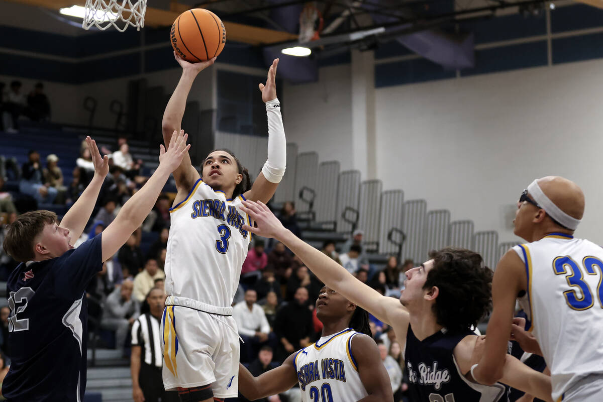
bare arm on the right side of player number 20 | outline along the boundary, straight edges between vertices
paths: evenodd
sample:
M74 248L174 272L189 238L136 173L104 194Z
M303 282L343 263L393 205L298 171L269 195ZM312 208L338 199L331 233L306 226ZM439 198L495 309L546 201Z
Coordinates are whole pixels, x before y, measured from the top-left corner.
M358 365L358 374L367 396L358 402L393 402L390 376L381 357L377 344L368 335L358 334L352 338L352 355Z

